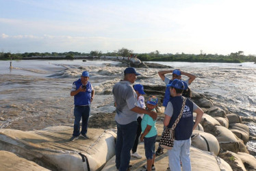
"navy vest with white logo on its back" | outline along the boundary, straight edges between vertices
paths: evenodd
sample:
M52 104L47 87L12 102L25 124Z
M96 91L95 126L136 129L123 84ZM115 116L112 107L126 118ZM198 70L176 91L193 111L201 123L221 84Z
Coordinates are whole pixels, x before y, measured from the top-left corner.
M172 103L173 114L170 118L168 128L171 128L172 124L174 124L175 120L177 120L179 113L181 112L183 100L181 96L175 96L170 98L170 103ZM183 114L175 128L175 140L190 139L190 136L192 135L193 125L193 103L192 101L190 101L190 99L187 98L185 107L183 109Z

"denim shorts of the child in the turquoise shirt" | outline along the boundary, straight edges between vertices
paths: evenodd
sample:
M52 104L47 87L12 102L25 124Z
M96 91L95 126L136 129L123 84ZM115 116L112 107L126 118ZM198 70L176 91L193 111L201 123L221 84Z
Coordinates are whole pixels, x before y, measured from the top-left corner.
M144 148L146 159L153 159L153 155L155 154L155 140L157 139L157 135L153 137L144 137Z

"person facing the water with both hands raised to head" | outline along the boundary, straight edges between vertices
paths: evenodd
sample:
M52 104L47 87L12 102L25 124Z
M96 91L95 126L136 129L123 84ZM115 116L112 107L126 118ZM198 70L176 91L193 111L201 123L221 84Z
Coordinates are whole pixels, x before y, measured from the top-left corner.
M168 79L165 76L167 73L172 73L172 79ZM183 72L179 69L176 69L176 70L161 70L161 71L158 72L158 75L162 79L162 81L164 81L164 83L166 85L172 83L172 80L174 80L174 79L181 79L181 75L185 75L185 76L188 77L188 79L185 80L185 83L187 83L188 85L190 85L190 83L192 83L192 81L194 81L194 79L196 79L196 76L194 76L192 74L189 74L189 73L185 73L185 72ZM166 92L164 94L163 106L166 107L169 101L170 101L170 89L166 88ZM159 155L162 155L163 153L164 153L163 148L158 146L157 152L155 153L155 155L159 156Z

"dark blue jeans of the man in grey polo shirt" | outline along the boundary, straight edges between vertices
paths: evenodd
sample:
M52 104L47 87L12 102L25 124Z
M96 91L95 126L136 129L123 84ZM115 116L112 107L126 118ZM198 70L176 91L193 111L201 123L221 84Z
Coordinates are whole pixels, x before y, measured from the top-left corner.
M118 122L116 122L116 125L116 168L120 171L125 171L129 167L131 159L130 151L136 138L138 123L137 121L133 121L129 124L118 124Z

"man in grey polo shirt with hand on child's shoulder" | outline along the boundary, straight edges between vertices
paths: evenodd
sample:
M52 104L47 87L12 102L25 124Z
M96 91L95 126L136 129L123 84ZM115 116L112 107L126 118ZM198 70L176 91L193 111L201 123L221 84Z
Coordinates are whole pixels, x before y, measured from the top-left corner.
M114 103L116 106L116 168L120 171L129 170L131 159L131 148L136 138L138 127L137 114L147 114L156 120L157 114L154 111L142 109L137 106L136 92L132 84L136 77L140 75L135 68L129 67L124 71L123 80L113 87Z

